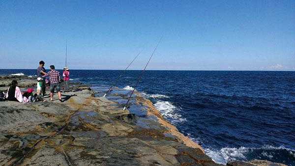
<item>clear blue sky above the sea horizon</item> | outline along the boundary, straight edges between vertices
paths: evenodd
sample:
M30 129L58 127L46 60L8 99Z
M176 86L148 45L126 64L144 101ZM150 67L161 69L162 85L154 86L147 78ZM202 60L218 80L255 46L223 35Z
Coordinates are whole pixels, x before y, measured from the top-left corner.
M1 0L0 68L295 70L295 0Z

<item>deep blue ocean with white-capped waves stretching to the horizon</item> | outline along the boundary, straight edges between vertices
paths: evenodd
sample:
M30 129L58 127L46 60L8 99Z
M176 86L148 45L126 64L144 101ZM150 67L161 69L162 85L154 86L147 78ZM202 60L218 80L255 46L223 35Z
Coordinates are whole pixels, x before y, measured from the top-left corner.
M71 70L71 81L107 89L121 72ZM0 69L0 75L18 73L36 70ZM140 74L127 71L115 85L132 90ZM295 166L295 72L146 71L136 90L217 163Z

